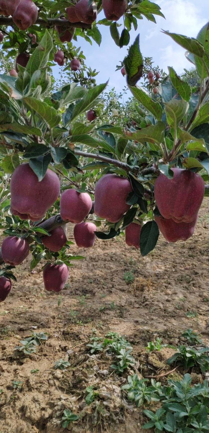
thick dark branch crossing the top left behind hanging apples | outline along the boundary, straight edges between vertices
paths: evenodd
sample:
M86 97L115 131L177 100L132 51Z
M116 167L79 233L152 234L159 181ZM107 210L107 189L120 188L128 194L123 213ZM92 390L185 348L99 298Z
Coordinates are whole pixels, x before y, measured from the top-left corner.
M55 26L61 26L63 29L68 29L72 27L76 27L77 29L91 29L91 24L85 24L85 23L70 23L67 19L60 19L60 18L48 18L47 20L38 18L35 24L39 24L42 27L55 27ZM7 18L6 16L0 17L0 26L13 26L13 19Z

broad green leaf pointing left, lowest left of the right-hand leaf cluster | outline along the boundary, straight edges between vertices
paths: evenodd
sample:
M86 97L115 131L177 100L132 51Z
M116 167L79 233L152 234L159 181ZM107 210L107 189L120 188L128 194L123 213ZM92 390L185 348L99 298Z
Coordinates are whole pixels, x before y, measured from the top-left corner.
M147 128L143 128L132 134L132 139L139 142L155 142L158 145L164 141L164 130L165 124L163 122L158 122L157 125L151 125Z

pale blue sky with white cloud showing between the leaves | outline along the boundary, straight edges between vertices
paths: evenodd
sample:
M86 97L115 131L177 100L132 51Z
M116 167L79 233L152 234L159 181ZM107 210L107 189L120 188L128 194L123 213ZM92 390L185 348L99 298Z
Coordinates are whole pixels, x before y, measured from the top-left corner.
M145 17L138 20L138 29L130 32L130 45L137 34L140 34L140 50L144 57L152 57L154 64L159 65L165 72L167 66L173 66L177 73L183 72L183 68L190 68L192 64L186 60L185 50L177 45L169 36L163 34L161 29L169 32L180 33L190 37L196 37L199 30L209 20L209 0L158 0L155 1L164 14L155 16L156 23L148 21ZM97 20L103 19L103 11ZM119 20L118 23L122 23ZM127 53L127 47L119 48L110 36L109 27L98 26L102 34L100 47L93 41L91 46L83 38L77 38L75 45L81 46L86 56L86 65L100 73L96 77L97 84L109 79L109 88L115 87L119 93L125 84L125 78L116 70ZM121 33L123 26L119 27ZM140 82L139 82L140 83ZM128 95L129 96L129 95Z

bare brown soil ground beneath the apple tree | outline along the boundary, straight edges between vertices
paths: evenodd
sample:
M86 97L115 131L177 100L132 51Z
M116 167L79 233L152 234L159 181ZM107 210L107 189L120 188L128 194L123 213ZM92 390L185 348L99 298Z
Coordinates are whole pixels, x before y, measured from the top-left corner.
M90 355L86 345L92 333L117 332L132 344L139 372L150 375L168 370L166 360L175 352L148 354L145 346L157 336L177 346L181 333L193 328L209 344L208 206L205 199L191 239L168 244L160 236L144 258L122 236L97 240L89 250L72 246L71 252L86 259L74 261L61 294L44 291L41 265L34 274L29 260L16 268L17 283L0 304L1 433L66 431L61 427L65 408L81 415L68 428L73 433L148 432L141 429L144 408L135 408L121 394L127 375L112 373L111 359L100 352ZM134 282L126 284L124 277ZM14 357L19 340L34 330L48 333L48 341L29 357ZM60 358L71 366L55 370ZM23 381L22 389L13 389L12 381ZM99 403L85 404L88 385L100 390Z

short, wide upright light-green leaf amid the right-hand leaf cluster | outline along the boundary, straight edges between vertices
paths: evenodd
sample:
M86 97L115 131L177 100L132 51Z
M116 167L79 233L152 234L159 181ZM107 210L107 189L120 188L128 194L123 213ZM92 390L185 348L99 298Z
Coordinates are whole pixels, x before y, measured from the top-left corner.
M167 123L176 129L187 113L188 108L188 102L183 100L172 99L171 101L165 103Z

